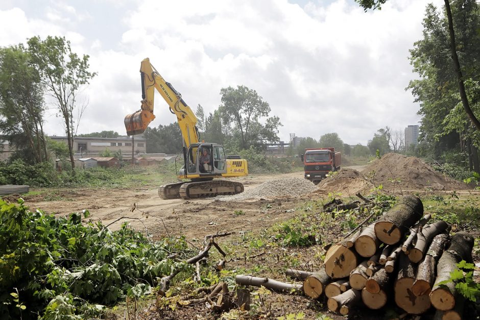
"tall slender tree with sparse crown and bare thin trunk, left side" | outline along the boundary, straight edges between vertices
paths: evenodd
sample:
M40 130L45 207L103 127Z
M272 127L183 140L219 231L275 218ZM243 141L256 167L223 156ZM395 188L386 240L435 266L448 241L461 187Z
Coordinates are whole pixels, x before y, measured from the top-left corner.
M28 40L28 49L42 83L54 98L56 107L65 124L68 151L72 170L75 168L74 136L86 105L79 105L78 93L82 86L96 75L89 70L88 55L79 56L71 51L70 42L64 37L33 37ZM75 174L75 171L73 171Z

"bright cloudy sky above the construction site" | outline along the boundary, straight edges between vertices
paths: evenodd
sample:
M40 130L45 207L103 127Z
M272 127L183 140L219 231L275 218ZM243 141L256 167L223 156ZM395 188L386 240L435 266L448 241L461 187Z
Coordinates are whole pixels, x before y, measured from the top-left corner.
M139 66L149 57L193 109L211 112L220 89L255 89L278 115L280 139L338 132L367 143L385 126L418 124L405 91L409 49L420 39L427 3L390 0L365 13L352 0L2 0L0 46L39 35L65 36L97 71L83 91L88 107L79 133L126 134L139 109ZM160 95L151 126L175 121ZM63 135L55 111L48 134Z

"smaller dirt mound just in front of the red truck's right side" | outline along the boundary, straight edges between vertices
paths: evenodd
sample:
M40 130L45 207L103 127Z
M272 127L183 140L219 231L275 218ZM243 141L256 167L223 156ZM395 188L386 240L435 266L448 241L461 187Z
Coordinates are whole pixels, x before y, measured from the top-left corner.
M355 169L342 168L334 174L322 180L316 193L340 192L343 195L354 195L373 188L365 177Z

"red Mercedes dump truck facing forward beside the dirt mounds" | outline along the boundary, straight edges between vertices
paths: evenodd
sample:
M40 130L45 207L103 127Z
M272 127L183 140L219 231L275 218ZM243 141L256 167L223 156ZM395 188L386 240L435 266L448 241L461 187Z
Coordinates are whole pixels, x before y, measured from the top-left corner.
M342 155L331 148L305 149L301 155L305 179L319 183L330 171L340 170Z

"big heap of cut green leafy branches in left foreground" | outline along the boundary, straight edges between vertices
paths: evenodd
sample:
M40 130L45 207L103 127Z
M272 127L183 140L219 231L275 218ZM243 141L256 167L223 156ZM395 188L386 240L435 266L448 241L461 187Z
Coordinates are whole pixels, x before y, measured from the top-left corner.
M79 213L55 217L2 200L0 222L2 318L25 309L45 319L99 317L103 305L148 294L172 267L184 266L167 258L186 254L183 239L153 242L127 223L112 232L101 222L82 224Z

